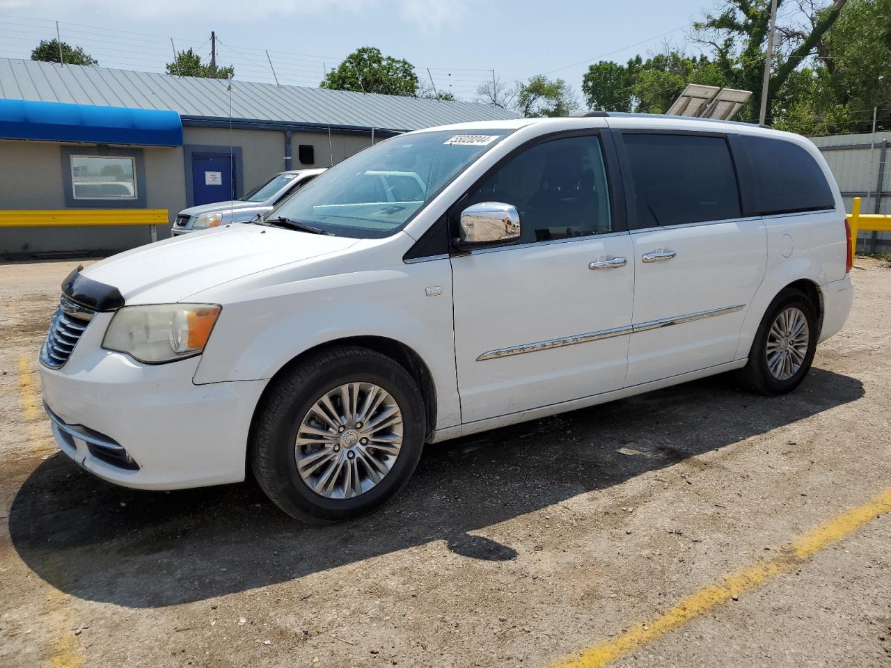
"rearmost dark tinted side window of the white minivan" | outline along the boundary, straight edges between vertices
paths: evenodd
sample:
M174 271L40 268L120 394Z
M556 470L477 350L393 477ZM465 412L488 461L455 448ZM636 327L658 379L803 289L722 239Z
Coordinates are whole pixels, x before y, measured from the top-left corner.
M780 139L734 138L748 157L751 186L747 208L752 216L835 208L835 197L822 169L810 153Z

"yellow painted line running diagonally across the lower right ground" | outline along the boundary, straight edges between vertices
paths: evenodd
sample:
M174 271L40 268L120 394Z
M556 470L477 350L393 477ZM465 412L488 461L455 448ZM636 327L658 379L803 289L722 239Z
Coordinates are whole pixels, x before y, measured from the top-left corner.
M820 550L840 541L855 529L889 511L891 511L891 489L879 494L869 503L849 510L844 515L831 519L796 541L783 546L777 558L747 566L719 582L709 584L668 608L661 615L637 624L615 639L593 645L580 655L562 659L552 664L552 668L599 668L616 661L734 596L754 590L775 575L800 565Z

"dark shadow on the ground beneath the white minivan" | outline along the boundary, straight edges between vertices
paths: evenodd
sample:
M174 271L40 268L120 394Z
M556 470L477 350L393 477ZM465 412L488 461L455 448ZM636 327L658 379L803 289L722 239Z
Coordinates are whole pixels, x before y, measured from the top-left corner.
M284 516L252 482L137 492L58 455L21 486L9 528L20 557L53 587L128 607L246 591L436 540L470 558L511 559L511 546L469 532L862 395L859 380L819 369L776 398L715 377L431 445L395 501L370 517L322 527Z

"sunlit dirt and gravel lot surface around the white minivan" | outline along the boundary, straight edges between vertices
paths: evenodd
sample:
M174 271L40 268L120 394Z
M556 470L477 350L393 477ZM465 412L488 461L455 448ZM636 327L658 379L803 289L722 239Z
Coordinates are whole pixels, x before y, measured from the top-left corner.
M396 502L324 528L251 483L139 493L55 454L35 359L73 265L0 266L2 666L544 666L598 643L623 666L891 666L891 514L781 549L891 487L887 263L858 258L793 395L706 379L430 446ZM663 615L752 565L736 599Z

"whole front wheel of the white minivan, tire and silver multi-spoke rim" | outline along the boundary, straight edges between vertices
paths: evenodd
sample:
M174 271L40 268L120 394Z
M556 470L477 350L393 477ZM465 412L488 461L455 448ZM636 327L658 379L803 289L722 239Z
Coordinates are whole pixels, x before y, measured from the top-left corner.
M364 515L412 476L426 434L412 377L386 355L337 347L298 363L259 407L251 467L291 517Z

